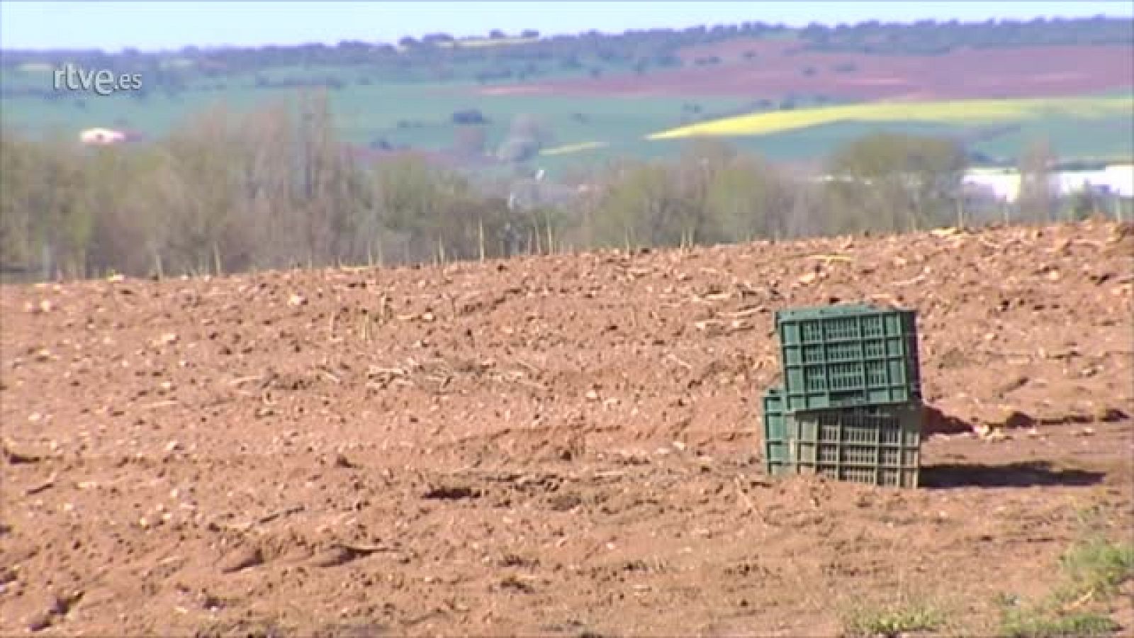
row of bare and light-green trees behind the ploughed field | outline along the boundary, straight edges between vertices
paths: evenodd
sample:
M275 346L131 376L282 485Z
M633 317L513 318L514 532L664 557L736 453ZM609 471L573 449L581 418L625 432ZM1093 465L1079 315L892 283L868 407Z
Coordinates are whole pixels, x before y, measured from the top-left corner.
M336 129L325 93L308 93L247 114L214 107L139 144L6 131L0 267L25 278L170 276L968 221L964 149L947 138L868 135L830 157L827 179L697 140L679 157L615 161L555 184L490 182L412 153L367 161ZM1049 154L1026 156L1027 183L1040 183ZM1022 201L1016 218L1056 210L1049 194Z

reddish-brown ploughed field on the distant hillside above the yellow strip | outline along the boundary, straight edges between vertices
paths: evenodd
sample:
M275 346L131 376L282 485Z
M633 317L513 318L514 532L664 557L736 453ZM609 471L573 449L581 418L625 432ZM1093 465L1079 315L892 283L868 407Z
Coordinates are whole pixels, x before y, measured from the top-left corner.
M789 94L860 100L949 100L1082 95L1134 86L1129 47L1022 47L958 49L941 56L875 56L798 50L798 44L731 41L689 49L687 60L708 54L722 64L486 89L582 95L742 95L776 99ZM746 60L745 51L756 58ZM854 64L855 70L836 67ZM805 75L807 68L813 75Z

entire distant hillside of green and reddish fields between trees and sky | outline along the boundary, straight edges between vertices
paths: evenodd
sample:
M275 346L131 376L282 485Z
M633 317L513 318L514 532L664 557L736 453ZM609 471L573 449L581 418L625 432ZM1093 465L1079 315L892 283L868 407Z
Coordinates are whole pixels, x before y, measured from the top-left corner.
M143 86L105 98L56 91L52 72L64 62L137 73ZM621 34L493 31L466 40L433 33L395 43L5 51L0 117L25 132L73 136L100 126L160 136L218 103L248 110L316 90L329 93L339 133L359 157L415 150L446 163L496 170L538 161L558 173L668 156L677 142L646 137L733 116L874 101L1129 95L1132 85L1129 18L797 30L746 22ZM991 129L963 119L836 121L737 142L771 159L813 161L885 127L964 140L974 157L1005 161L1039 137L1070 158L1134 152L1125 115Z

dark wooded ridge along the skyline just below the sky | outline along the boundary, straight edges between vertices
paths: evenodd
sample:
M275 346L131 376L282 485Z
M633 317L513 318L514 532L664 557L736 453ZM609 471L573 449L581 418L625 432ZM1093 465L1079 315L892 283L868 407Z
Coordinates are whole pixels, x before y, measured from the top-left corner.
M753 6L759 11L759 6ZM1134 20L1095 17L1086 19L1035 19L1026 23L934 23L853 26L813 25L793 30L782 25L745 22L685 30L627 31L603 34L595 31L576 35L540 37L525 31L509 37L494 31L486 39L454 40L434 33L405 37L398 43L340 42L338 45L261 47L110 53L98 50L20 51L6 50L0 67L5 72L34 69L71 61L96 68L143 73L150 90L184 90L195 78L219 78L232 74L268 70L299 70L312 67L353 67L362 82L465 81L525 82L560 76L600 77L645 75L683 67L711 67L718 53L706 50L689 59L682 51L691 47L731 41L793 41L796 52L855 53L866 56L940 56L960 49L1004 50L1035 47L1131 47ZM485 45L499 43L499 45ZM742 44L743 45L743 44ZM1051 60L1044 60L1044 64ZM27 94L11 78L5 95ZM301 75L287 78L257 77L262 86L322 85L342 89L348 78L335 75Z

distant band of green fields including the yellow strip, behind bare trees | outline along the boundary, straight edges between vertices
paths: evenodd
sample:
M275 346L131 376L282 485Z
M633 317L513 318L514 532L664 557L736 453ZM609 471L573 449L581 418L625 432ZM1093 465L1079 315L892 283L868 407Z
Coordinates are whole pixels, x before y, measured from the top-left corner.
M361 67L273 68L259 74L259 81L327 75L339 78L344 87L331 90L329 95L340 133L359 145L384 141L426 150L450 149L458 129L454 112L479 109L488 119L485 141L492 151L503 141L516 116L534 115L552 134L544 154L534 161L552 175L625 156L668 156L685 146L689 135L714 126L734 128L727 136L730 143L773 160L820 159L839 144L877 131L955 135L972 150L1002 158L1015 157L1041 137L1050 140L1065 159L1134 156L1134 123L1129 115L1134 101L1128 92L1057 100L1047 104L1055 104L1052 108L1038 101L984 100L960 106L843 104L727 118L751 108L746 104L752 99L481 95L476 83L430 81L424 77L428 69L414 70L416 75L407 75L405 82L375 82L367 73ZM49 69L0 75L6 87L48 87L50 82ZM144 100L129 94L69 94L50 101L5 98L0 101L0 120L31 133L75 136L87 127L122 126L160 136L212 104L248 111L296 94L295 89L257 86L254 75L198 77L186 91L172 96L154 91ZM683 128L691 124L694 126ZM990 124L996 126L988 131ZM672 138L645 140L658 133L663 133L658 137Z

